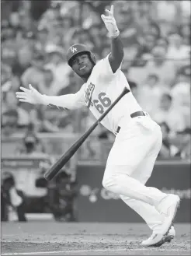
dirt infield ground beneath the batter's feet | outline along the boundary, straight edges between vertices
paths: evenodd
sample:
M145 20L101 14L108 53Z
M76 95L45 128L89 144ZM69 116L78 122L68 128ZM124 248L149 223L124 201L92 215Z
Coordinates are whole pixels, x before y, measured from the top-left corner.
M2 223L2 256L190 255L190 228L175 224L170 244L145 248L151 231L142 223Z

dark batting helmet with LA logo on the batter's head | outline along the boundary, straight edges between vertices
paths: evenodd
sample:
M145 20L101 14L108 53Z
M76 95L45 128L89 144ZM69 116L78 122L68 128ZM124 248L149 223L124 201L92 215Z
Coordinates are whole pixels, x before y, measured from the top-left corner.
M75 56L77 54L80 53L85 53L85 54L89 54L90 59L92 60L92 62L94 64L96 64L96 57L94 54L92 54L92 51L90 51L88 49L88 47L85 46L85 44L74 44L72 45L68 51L67 51L67 61L68 61L68 65L71 66L71 62L73 61L73 59L75 58Z

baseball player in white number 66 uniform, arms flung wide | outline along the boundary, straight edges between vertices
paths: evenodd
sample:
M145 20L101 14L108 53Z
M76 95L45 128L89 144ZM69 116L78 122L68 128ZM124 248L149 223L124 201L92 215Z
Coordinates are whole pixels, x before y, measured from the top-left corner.
M111 52L106 58L96 63L94 54L83 44L68 49L68 65L84 81L81 89L75 94L46 96L30 85L30 89L21 87L23 92L16 93L19 101L68 110L85 105L99 118L124 86L130 89L121 71L123 44L113 16L113 5L101 17L111 37ZM175 236L172 222L179 196L167 195L144 185L161 149L161 128L141 109L131 92L123 96L101 123L116 135L106 163L103 187L120 195L151 228L151 237L142 245L160 246L172 240Z

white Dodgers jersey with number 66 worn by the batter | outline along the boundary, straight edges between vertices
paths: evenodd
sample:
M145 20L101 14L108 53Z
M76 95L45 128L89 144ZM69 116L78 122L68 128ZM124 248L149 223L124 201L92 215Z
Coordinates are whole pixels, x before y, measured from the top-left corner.
M81 103L89 107L96 119L116 100L125 86L130 89L125 75L120 70L121 66L113 73L108 57L109 55L94 66L88 81L78 91ZM139 110L142 109L133 94L127 93L103 118L101 124L109 131L116 132L124 116L130 118L130 114Z

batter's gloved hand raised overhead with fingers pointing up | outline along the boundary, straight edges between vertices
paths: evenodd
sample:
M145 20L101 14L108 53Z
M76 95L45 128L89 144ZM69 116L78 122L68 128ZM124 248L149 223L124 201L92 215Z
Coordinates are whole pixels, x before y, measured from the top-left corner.
M113 5L111 5L110 11L106 9L106 13L108 14L108 16L105 16L104 14L102 14L101 18L106 25L106 29L109 31L109 36L118 37L120 34L120 31L116 26L116 19L113 16Z

